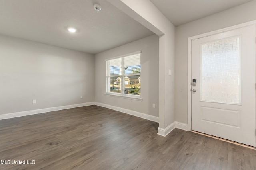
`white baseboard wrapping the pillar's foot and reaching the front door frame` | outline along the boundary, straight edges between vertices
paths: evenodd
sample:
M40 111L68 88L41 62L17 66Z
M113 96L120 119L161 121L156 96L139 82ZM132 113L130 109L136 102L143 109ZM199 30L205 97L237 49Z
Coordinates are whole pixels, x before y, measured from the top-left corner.
M188 124L180 123L178 121L174 121L172 124L170 124L166 128L158 127L157 134L166 137L175 128L182 129L184 131L188 131Z

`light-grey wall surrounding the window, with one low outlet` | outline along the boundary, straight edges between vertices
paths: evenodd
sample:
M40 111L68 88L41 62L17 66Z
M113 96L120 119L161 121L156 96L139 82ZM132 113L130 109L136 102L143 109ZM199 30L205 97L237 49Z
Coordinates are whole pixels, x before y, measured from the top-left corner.
M106 59L128 53L141 53L141 96L143 101L106 96ZM159 37L152 35L95 55L95 102L158 117ZM156 108L152 108L152 104Z

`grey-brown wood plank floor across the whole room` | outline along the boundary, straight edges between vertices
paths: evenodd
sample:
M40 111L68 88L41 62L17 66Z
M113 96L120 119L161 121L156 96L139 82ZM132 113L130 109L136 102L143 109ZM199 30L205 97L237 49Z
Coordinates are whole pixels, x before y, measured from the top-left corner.
M99 106L0 120L1 170L256 170L256 151ZM3 162L2 162L3 163Z

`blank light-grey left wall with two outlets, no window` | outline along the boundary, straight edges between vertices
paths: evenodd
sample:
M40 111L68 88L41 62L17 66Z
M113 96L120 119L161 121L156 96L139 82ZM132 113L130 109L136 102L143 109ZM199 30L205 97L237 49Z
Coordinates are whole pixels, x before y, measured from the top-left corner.
M85 102L94 55L0 35L0 114Z

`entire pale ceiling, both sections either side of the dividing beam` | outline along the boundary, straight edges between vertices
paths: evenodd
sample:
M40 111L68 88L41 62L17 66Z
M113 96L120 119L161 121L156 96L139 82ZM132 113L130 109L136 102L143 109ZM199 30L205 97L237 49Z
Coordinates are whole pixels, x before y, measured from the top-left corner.
M249 1L151 0L176 26ZM92 54L154 34L106 0L0 0L0 24L1 35Z

